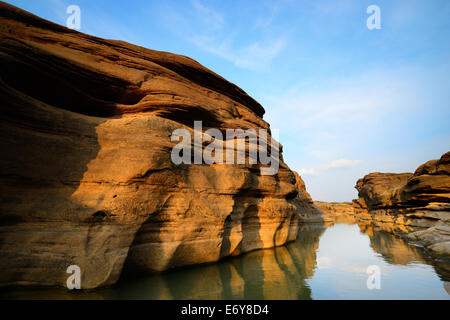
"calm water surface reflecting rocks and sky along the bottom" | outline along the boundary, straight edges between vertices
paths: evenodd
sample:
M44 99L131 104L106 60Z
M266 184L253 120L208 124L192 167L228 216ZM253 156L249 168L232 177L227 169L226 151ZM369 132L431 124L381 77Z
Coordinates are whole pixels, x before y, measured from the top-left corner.
M367 267L381 271L381 288L367 289ZM121 281L88 292L5 291L10 299L447 299L450 263L372 227L304 227L287 246L216 264Z

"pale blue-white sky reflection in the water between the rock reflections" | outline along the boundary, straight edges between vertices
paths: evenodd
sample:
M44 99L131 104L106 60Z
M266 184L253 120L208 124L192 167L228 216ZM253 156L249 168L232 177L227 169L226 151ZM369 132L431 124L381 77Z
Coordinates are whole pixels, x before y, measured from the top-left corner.
M386 248L389 249L389 248ZM449 299L430 265L389 264L370 248L370 239L357 225L327 229L317 250L318 267L307 279L313 299ZM366 286L370 265L381 269L381 289Z

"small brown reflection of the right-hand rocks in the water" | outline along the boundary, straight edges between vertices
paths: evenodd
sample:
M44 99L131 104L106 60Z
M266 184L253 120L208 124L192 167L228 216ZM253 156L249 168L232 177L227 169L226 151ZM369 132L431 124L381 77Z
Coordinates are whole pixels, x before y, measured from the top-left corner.
M373 224L360 223L359 228L362 233L369 236L370 247L379 253L386 262L396 265L408 265L410 263L432 265L442 280L448 281L450 279L448 261L434 259L424 248L408 244L398 235L380 230Z

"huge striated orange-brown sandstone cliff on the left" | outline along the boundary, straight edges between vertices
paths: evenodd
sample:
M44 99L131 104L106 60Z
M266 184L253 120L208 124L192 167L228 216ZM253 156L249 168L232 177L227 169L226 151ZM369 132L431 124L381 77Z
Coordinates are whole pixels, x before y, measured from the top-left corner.
M196 61L103 40L0 3L0 285L82 288L214 262L297 236L318 214L280 160L175 165L175 129L269 129ZM244 138L245 139L245 138ZM281 151L281 150L280 150Z

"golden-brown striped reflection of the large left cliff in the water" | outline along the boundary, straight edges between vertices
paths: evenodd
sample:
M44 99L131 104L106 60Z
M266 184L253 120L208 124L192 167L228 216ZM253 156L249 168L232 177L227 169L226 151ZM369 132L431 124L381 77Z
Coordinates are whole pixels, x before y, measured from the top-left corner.
M128 280L114 291L100 292L105 298L120 298L113 292L121 292L124 297L140 299L311 299L305 279L314 274L323 231L321 225L311 224L302 227L297 241L284 247Z

